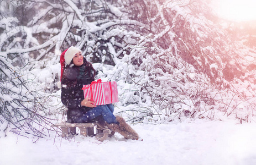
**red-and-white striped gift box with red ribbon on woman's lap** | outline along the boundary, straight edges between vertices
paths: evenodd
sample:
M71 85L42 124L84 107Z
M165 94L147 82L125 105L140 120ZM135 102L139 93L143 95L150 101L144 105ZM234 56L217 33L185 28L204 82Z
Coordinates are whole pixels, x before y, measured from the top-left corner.
M102 82L101 79L92 81L91 84L83 85L83 95L85 98L91 98L96 106L107 105L118 102L117 82Z

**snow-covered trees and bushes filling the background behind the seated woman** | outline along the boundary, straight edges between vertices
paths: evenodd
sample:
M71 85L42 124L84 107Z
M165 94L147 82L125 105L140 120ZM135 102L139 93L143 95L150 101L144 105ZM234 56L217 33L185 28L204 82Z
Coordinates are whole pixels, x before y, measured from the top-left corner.
M0 138L44 138L65 120L57 83L70 46L117 81L115 112L130 123L255 122L255 24L219 19L211 1L0 3Z

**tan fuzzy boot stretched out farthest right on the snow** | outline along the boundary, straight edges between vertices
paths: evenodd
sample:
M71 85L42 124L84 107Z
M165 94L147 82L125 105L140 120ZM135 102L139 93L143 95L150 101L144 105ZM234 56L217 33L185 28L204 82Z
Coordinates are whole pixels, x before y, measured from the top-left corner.
M128 125L126 123L126 121L120 117L120 116L116 116L117 122L118 124L108 124L107 127L113 131L118 132L119 134L123 135L124 138L126 139L132 139L132 140L138 140L139 139L139 135L136 133L136 131L134 129L132 129L132 127L130 127L130 125Z

